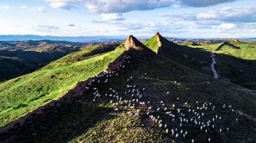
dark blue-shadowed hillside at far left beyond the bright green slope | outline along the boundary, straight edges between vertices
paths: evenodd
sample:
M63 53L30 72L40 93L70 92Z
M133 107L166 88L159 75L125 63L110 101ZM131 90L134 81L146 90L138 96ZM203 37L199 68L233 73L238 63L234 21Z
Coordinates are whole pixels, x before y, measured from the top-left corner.
M0 51L0 81L34 72L68 54L61 51Z

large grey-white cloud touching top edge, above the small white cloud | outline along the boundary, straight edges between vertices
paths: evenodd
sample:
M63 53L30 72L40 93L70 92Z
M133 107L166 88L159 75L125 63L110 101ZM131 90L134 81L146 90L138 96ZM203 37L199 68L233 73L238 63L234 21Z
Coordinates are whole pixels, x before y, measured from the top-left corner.
M93 13L124 13L168 7L174 0L45 0L54 8L70 10L84 4Z

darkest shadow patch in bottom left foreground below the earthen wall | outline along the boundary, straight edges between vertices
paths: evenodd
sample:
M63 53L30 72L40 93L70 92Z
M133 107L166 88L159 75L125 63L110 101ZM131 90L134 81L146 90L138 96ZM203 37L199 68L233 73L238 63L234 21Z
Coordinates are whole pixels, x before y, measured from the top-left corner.
M0 132L0 142L6 143L67 143L88 131L102 120L113 119L113 108L100 106L93 97L74 97L61 101L59 107L49 107L42 114L32 115L26 123L8 132Z

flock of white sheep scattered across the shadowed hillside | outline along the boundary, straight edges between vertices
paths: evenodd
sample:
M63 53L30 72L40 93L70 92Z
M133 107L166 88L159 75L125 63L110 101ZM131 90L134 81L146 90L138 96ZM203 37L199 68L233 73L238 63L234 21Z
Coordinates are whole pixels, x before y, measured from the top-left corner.
M131 57L125 56L125 60L123 61L123 63L125 63L125 61L127 61L127 63L130 63L130 59ZM115 71L111 73L105 72L98 77L109 78L113 75L118 76L117 70L119 71L120 68L125 68L125 65L120 65ZM144 76L146 74L147 73L145 73ZM127 79L127 82L131 81L132 79L132 76L129 77ZM97 82L97 84L99 84L100 78L98 78L98 81L91 80L88 86L92 86L92 83L94 82ZM107 83L108 79L103 80L102 82ZM89 87L85 88L89 89ZM119 92L117 92L113 88L110 88L108 93L100 94L97 88L93 88L93 102L96 102L97 98L99 97L108 97L108 99L110 100L109 103L114 107L114 111L118 112L120 109L125 109L125 112L127 112L128 116L140 116L140 114L146 114L150 118L152 123L157 124L160 129L163 129L163 132L165 132L166 134L172 134L172 136L175 138L180 136L185 138L186 135L189 134L189 132L185 131L182 128L183 126L188 125L195 126L195 128L198 129L200 132L205 132L207 136L208 132L210 132L212 129L217 128L216 124L218 124L218 120L222 120L221 116L214 113L215 106L213 103L199 103L198 101L196 101L196 103L185 102L183 105L176 105L175 103L165 103L164 100L162 100L159 103L155 103L153 101L153 106L150 101L144 102L141 99L145 88L137 88L136 85L129 84L126 85L126 88L127 91L122 94L119 94ZM169 94L169 92L166 91L165 94ZM180 99L177 97L176 100ZM140 110L140 108L142 108L143 110ZM221 108L229 109L229 112L234 112L234 109L232 109L232 105L226 107L226 105L224 104ZM162 114L162 117L159 116L159 114ZM214 116L209 117L212 114L214 114ZM169 119L166 120L166 118ZM236 122L238 122L237 118ZM172 125L175 124L176 128L172 127L169 123ZM229 127L219 128L217 130L218 132L228 133ZM207 141L210 142L210 137L207 138ZM191 142L194 143L195 140L191 139Z

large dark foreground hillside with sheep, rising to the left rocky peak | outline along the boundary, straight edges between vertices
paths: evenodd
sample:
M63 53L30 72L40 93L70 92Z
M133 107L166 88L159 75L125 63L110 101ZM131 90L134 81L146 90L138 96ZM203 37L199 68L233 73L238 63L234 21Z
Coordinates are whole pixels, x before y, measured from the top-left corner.
M255 142L255 91L156 54L133 36L123 46L125 60L115 71L80 86L81 94L70 92L22 123L0 129L0 141ZM84 70L73 74L82 76Z

